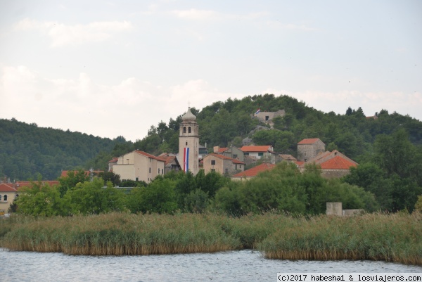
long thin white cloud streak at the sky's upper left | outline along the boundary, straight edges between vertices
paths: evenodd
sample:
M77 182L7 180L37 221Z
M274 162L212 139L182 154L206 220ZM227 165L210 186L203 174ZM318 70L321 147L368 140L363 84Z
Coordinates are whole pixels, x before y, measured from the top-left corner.
M116 32L124 32L133 28L132 23L106 21L87 25L65 25L56 22L39 22L25 18L15 25L15 30L39 30L51 38L51 47L79 45L109 39Z

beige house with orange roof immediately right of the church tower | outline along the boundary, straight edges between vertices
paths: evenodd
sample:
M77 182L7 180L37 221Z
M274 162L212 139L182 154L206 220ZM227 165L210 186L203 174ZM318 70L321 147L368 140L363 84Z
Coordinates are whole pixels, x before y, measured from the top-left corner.
M243 172L245 162L234 158L226 157L216 153L210 153L203 158L205 174L208 172L219 172L220 174L233 175L236 172Z

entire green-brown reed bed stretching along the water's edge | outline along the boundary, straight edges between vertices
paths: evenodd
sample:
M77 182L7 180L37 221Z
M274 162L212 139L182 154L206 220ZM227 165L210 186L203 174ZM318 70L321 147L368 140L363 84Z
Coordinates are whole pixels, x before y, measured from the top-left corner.
M69 255L258 249L270 259L373 259L422 264L421 214L293 217L277 212L127 214L0 220L0 247Z

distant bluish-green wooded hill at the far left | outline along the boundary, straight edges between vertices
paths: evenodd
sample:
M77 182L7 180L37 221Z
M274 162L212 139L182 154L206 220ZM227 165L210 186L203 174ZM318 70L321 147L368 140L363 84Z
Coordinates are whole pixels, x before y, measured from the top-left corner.
M36 180L41 174L42 179L57 179L62 169L85 168L98 153L122 142L122 137L110 140L0 119L0 177Z

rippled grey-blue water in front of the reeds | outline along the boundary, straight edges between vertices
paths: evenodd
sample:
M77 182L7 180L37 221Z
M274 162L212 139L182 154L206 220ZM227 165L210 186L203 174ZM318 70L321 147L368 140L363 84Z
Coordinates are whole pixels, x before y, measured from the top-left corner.
M0 249L0 281L276 281L277 272L422 272L371 261L287 261L241 250L131 257L70 256Z

